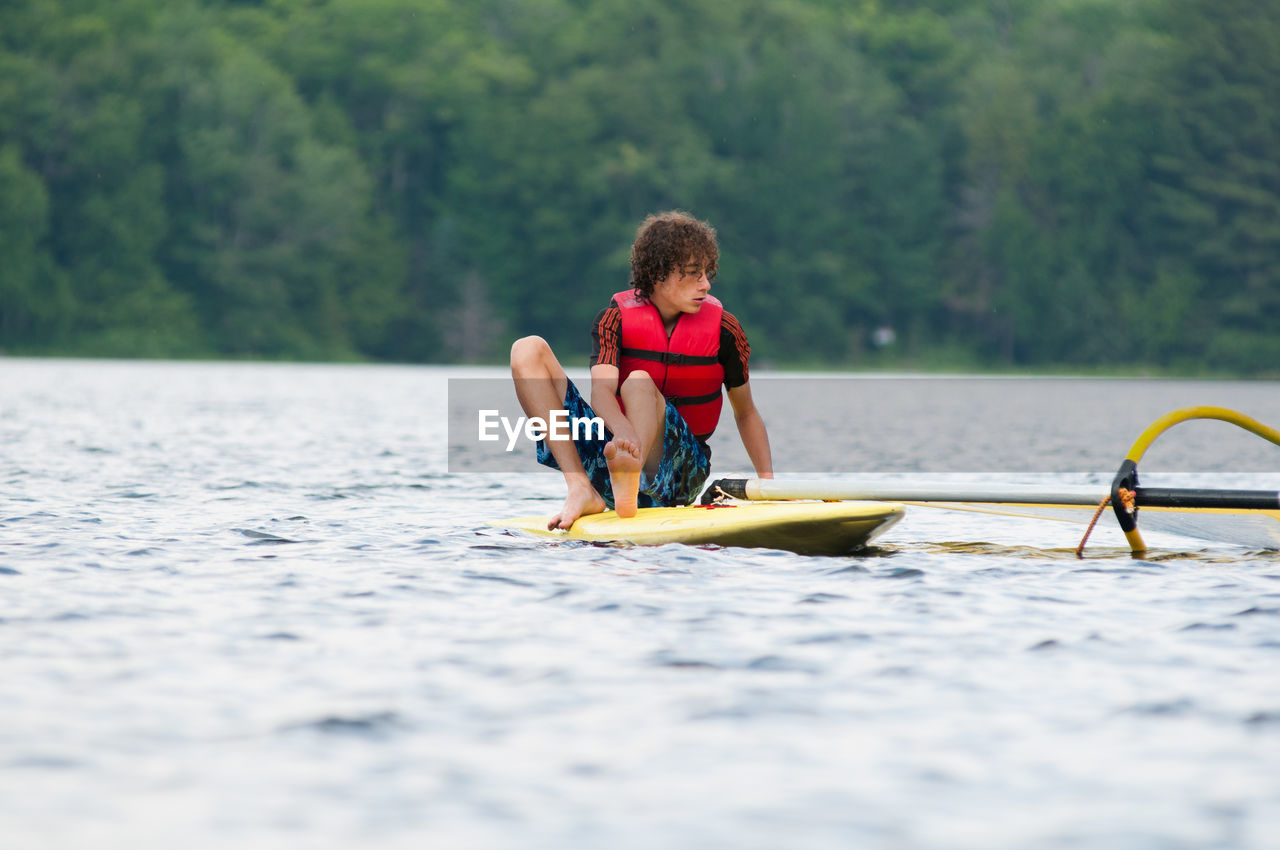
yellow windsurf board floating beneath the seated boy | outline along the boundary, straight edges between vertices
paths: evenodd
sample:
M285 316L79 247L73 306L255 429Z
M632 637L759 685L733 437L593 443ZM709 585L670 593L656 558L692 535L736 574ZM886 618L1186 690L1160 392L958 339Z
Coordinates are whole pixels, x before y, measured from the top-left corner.
M753 547L799 554L849 554L902 517L886 502L728 502L677 508L640 508L622 518L613 511L584 516L568 531L548 531L549 516L494 520L489 525L557 540L658 545Z

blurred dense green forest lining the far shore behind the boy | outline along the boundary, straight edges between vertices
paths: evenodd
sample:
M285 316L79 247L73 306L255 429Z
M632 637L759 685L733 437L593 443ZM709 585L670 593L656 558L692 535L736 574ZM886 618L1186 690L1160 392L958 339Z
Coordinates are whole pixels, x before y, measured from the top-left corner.
M767 361L1275 374L1277 151L1275 0L8 0L0 349L577 357L680 207Z

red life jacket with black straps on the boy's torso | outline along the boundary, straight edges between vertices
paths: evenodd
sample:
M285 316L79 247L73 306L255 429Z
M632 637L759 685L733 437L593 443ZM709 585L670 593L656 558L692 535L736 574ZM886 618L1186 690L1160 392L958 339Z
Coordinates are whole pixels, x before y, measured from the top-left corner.
M689 429L703 439L710 437L724 401L724 367L719 362L723 305L707 296L701 310L681 314L667 337L662 314L634 289L613 296L613 303L622 314L618 385L636 370L649 373Z

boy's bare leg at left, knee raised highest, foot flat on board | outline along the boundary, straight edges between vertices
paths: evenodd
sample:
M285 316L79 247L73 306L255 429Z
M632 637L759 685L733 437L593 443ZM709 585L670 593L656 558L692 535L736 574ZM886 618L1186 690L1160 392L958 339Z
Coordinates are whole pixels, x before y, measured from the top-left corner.
M524 337L511 346L511 376L516 381L516 398L520 399L525 416L538 416L543 421L550 421L550 412L563 407L568 375L541 337ZM586 476L573 440L548 438L547 448L564 474L564 485L568 489L564 504L547 527L568 529L577 517L604 511L604 499Z

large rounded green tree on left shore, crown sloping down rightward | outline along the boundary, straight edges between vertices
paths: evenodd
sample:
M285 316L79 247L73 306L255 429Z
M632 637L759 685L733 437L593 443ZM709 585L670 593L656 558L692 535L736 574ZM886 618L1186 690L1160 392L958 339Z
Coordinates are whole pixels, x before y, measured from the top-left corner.
M291 81L197 9L165 13L148 92L168 157L161 256L229 355L379 351L397 246L355 152L316 138Z

